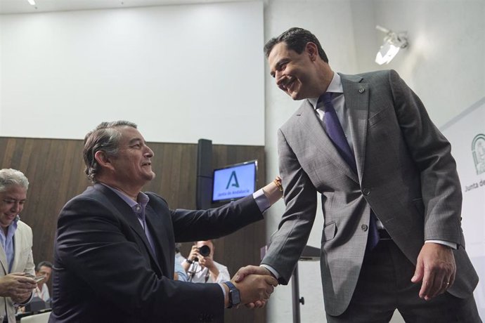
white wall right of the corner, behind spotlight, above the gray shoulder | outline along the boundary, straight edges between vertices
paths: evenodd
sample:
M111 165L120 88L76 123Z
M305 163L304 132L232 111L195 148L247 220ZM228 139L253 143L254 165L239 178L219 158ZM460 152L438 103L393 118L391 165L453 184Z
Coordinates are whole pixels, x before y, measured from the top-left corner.
M376 22L408 31L409 48L387 68L420 95L437 126L484 97L484 0L376 0L374 7Z

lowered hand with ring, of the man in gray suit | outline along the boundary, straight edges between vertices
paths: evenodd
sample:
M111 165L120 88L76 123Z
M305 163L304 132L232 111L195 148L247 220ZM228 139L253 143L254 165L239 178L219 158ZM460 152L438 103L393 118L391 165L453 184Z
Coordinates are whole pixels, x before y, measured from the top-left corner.
M427 243L421 248L411 282L422 282L419 296L426 301L443 294L455 281L453 250L443 244Z

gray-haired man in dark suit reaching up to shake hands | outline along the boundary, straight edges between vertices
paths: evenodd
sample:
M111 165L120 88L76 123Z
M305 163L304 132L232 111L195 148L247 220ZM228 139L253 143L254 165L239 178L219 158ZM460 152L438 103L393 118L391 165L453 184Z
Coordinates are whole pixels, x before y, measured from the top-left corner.
M269 298L277 282L268 276L235 286L174 281L174 243L261 220L281 196L275 183L218 209L171 210L141 192L155 173L135 124L100 124L86 135L83 154L94 184L60 211L49 322L223 322L224 307Z

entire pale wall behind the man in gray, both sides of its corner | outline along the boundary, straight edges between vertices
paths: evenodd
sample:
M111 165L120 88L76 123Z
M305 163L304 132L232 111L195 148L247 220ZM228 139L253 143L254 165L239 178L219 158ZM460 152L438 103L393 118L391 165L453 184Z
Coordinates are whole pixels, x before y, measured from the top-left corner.
M485 94L485 1L483 0L270 0L265 7L265 41L289 27L316 34L333 70L358 73L392 68L420 95L429 115L441 126ZM375 64L384 34L382 25L408 31L409 48L389 64ZM277 129L295 112L290 100L273 84L266 70L266 150L269 179L278 173ZM283 202L266 218L267 233L276 230ZM309 245L320 246L321 212ZM466 232L465 232L466 233ZM299 263L302 322L325 322L318 263ZM269 302L269 323L292 322L291 286L278 286ZM396 313L392 322L403 322Z

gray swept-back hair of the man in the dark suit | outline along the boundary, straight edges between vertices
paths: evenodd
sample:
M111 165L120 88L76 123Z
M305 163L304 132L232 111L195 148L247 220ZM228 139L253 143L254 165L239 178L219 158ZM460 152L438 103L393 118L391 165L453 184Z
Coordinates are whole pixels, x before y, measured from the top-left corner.
M86 165L84 172L91 182L96 181L96 173L99 171L99 164L94 155L98 151L111 157L117 155L119 140L122 138L122 134L117 128L122 126L136 128L136 124L130 121L102 122L84 137L84 149L82 150L84 164Z

